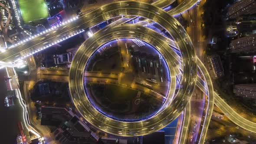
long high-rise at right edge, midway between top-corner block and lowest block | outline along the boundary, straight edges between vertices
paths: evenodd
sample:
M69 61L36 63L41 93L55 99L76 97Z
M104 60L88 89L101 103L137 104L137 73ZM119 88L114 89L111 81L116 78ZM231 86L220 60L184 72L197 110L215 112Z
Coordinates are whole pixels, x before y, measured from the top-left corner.
M256 33L231 41L230 51L232 53L256 52Z

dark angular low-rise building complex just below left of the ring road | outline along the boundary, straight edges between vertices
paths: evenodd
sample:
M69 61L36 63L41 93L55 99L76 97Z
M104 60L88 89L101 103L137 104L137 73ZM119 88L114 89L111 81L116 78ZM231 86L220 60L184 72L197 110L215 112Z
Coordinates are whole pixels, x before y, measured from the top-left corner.
M96 144L100 139L68 108L43 106L41 125L56 126L54 137L61 144Z

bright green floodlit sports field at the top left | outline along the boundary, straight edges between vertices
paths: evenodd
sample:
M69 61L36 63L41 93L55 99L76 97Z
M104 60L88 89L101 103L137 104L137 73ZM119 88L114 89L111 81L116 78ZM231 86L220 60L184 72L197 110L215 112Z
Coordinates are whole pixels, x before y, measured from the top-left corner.
M25 23L48 17L48 10L44 0L18 0L20 12Z

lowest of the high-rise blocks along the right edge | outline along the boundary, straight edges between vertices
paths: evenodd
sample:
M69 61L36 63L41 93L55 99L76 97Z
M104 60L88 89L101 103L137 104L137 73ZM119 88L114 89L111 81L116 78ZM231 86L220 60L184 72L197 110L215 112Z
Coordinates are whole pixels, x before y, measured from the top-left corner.
M233 92L236 96L256 99L256 84L235 85Z

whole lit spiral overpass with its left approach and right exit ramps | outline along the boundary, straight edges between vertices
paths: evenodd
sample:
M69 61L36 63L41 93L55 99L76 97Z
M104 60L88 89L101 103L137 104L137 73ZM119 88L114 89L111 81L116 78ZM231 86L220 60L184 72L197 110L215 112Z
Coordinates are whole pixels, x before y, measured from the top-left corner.
M190 3L183 3L181 6L178 6L180 8L173 10L171 15L182 13L196 3L193 0L191 1ZM207 132L213 110L213 102L215 102L231 121L238 124L241 128L256 132L256 123L246 121L245 118L233 111L232 108L213 92L213 85L209 73L203 63L195 56L193 44L180 23L164 10L147 3L122 1L102 6L81 17L74 17L66 24L56 26L56 28L49 29L34 36L34 38L26 39L14 45L6 52L0 53L0 60L3 62L13 62L25 59L27 56L53 46L77 33L82 33L85 31L84 29L95 26L102 21L116 16L127 15L142 16L160 24L171 34L174 41L165 38L153 30L127 24L114 26L109 29L106 28L104 29L105 31L100 30L95 33L94 36L87 39L79 48L72 62L69 75L73 101L75 101L76 107L87 121L102 131L111 134L121 136L148 134L163 128L166 124L173 121L174 118L177 118L177 116L184 111L184 108L186 108L190 101L191 94L194 91L194 87L197 85L207 95L208 101L206 117L203 121L202 133L200 134L200 143L203 143ZM115 121L101 115L92 105L86 102L86 99L81 99L82 97L86 98L82 88L82 73L90 54L102 44L116 38L136 38L152 44L166 59L171 75L179 75L182 72L181 89L177 95L173 95L175 88L174 85L171 85L168 95L170 104L166 104L166 108L163 108L159 111L158 115L148 120L132 123ZM181 59L182 62L177 59L175 52L172 52L170 48L171 44L174 44L180 49L182 57L179 59ZM197 69L203 74L203 79L199 79L197 76ZM176 79L171 77L171 80L175 81ZM188 109L189 108L187 108L186 111Z

